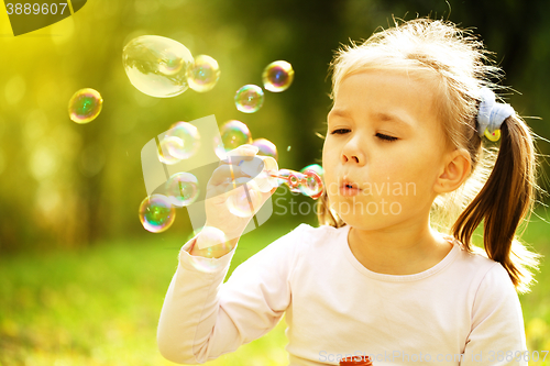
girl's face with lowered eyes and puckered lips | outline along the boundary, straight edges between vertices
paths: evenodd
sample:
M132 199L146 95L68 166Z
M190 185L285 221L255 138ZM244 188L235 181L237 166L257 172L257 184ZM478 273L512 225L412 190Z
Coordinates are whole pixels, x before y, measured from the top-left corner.
M350 75L322 149L330 204L362 230L426 220L444 153L431 81L398 71Z

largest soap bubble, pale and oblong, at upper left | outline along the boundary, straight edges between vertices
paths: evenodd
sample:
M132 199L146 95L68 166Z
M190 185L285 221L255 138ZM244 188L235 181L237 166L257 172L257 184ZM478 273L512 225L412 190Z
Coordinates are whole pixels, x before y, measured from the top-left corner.
M168 98L187 90L187 68L193 55L186 46L158 35L142 35L122 51L122 63L130 82L141 92Z

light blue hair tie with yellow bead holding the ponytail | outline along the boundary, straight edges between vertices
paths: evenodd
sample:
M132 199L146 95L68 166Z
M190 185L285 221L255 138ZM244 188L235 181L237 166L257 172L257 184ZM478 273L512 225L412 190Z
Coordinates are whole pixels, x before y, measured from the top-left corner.
M501 125L504 120L515 113L510 104L498 103L490 88L480 90L480 110L477 111L477 134L491 141L501 138Z

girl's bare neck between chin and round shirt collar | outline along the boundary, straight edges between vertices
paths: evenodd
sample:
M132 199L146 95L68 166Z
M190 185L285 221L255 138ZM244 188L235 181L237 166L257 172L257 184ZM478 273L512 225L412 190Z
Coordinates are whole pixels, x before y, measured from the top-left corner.
M425 271L452 249L452 244L430 228L411 232L381 233L350 228L348 245L369 270L386 275L414 275Z

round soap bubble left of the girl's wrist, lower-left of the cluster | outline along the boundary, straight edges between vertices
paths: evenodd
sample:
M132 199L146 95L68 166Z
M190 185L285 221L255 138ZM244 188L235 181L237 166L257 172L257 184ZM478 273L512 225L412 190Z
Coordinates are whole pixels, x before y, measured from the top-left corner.
M140 221L152 233L166 231L176 218L176 209L163 195L152 195L140 204Z

